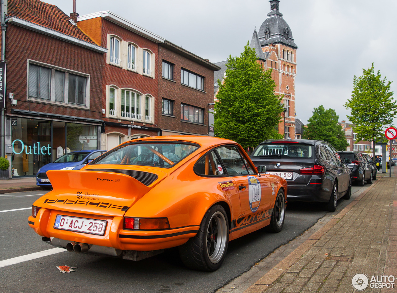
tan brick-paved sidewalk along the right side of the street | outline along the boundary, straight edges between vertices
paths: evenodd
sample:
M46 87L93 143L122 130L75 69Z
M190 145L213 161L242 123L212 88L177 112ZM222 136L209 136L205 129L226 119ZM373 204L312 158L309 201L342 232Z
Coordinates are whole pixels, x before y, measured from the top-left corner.
M391 283L397 287L396 177L380 173L377 178L245 293L358 292L352 279L358 289L368 285L364 292L396 292L377 288ZM372 276L378 280L371 282ZM393 282L387 277L381 281L381 276L394 276L389 278Z

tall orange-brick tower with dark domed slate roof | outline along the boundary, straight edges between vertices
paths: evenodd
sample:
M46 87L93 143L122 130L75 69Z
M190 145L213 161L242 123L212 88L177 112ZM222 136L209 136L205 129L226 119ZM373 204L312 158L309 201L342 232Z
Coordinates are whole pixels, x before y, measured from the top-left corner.
M279 12L279 0L270 0L270 12L260 26L254 30L251 48L256 51L264 70L272 69L272 77L276 83L275 94L284 95L285 111L279 124L279 133L284 138L300 139L295 136L295 77L297 73L297 57L292 31L283 15Z

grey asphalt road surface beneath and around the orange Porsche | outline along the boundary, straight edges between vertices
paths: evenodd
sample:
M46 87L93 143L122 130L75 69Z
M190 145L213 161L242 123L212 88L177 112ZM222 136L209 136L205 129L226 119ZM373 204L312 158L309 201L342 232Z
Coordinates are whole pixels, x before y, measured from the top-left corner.
M353 193L359 189L353 186ZM265 228L231 241L224 263L215 272L185 268L179 260L177 249L169 249L139 262L62 251L1 267L2 261L4 264L4 261L14 257L54 248L42 242L41 236L29 228L27 218L31 215L31 209L23 209L30 208L43 193L31 191L0 195L0 293L214 292L326 215L322 205L289 204L280 233L271 233ZM350 200L340 200L335 214L354 198L353 194ZM75 272L62 274L56 268L61 265L78 268Z

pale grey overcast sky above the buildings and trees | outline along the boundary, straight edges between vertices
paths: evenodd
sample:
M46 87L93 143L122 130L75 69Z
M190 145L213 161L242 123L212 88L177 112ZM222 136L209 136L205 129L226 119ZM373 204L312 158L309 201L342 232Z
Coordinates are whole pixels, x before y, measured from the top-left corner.
M47 0L69 15L72 0ZM110 10L211 62L238 56L270 12L268 0L76 0L80 16ZM397 1L281 0L297 49L295 110L323 105L347 120L354 76L374 63L397 89ZM396 54L396 55L395 55ZM397 93L397 91L396 91ZM397 121L397 120L396 120Z

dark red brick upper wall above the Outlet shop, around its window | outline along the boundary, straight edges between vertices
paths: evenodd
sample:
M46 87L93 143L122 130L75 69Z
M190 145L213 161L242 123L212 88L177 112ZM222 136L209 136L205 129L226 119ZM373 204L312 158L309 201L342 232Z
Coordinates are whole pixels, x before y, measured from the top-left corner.
M7 113L11 107L93 119L102 118L102 53L97 53L32 30L8 24L6 31L7 95L14 93L17 105L6 99ZM90 108L77 109L60 103L27 101L27 60L90 74Z

